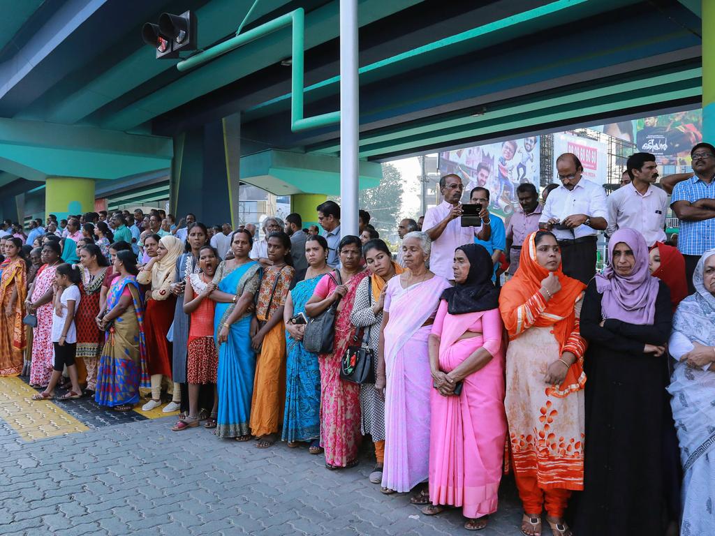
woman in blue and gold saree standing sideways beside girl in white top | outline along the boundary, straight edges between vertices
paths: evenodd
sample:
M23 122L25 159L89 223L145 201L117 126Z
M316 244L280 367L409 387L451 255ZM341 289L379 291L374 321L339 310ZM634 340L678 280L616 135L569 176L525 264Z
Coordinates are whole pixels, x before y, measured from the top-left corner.
M109 288L107 314L99 322L100 329L109 327L109 332L99 359L94 400L117 411L129 411L139 402L139 387L151 387L144 344L144 309L134 254L117 252L113 267L119 276Z

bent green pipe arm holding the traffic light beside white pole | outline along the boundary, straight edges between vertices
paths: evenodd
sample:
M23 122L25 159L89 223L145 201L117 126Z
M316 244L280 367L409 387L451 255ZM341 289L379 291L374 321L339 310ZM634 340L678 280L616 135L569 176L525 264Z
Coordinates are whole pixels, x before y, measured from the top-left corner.
M246 18L250 15L258 0L255 1ZM245 22L245 19L244 19ZM238 31L243 27L241 23ZM303 56L305 49L305 11L301 8L290 11L285 15L279 16L277 19L268 21L265 24L250 29L245 34L238 34L231 39L227 39L222 43L212 46L210 49L200 52L189 59L179 61L177 69L179 71L188 71L199 65L206 63L212 59L222 56L227 52L237 49L250 41L270 34L274 31L292 26L292 54L291 54L291 74L292 80L290 84L291 102L290 102L290 129L294 132L307 129L317 129L321 126L340 123L340 111L332 111L329 114L321 114L313 117L303 117Z

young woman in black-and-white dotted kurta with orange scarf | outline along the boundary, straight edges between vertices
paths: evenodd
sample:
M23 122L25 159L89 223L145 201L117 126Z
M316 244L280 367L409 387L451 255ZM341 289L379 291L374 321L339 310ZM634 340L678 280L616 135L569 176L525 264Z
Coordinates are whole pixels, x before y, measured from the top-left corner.
M370 277L365 277L360 282L358 291L355 292L355 306L352 307L350 320L352 325L365 330L365 344L373 351L373 372L377 374L378 342L380 342L380 325L383 323L385 287L395 274L401 274L405 270L393 262L390 249L380 239L365 243L363 257ZM370 434L375 444L375 469L370 473L370 482L380 484L383 481L385 460L385 399L375 389L374 383L360 385L360 414L362 415L360 433Z

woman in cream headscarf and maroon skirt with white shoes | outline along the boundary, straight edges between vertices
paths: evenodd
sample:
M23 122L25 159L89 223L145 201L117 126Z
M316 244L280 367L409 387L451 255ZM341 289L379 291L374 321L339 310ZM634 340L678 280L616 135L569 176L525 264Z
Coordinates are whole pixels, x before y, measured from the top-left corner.
M176 278L177 259L184 251L184 244L177 237L166 236L159 240L157 256L144 265L137 276L140 284L151 284L147 290L146 314L144 316L147 337L147 367L152 377L152 399L142 410L149 411L162 404L162 377L172 378L172 343L167 340L167 332L174 320L176 296L171 285ZM174 386L172 402L164 408L167 412L179 409L181 390Z

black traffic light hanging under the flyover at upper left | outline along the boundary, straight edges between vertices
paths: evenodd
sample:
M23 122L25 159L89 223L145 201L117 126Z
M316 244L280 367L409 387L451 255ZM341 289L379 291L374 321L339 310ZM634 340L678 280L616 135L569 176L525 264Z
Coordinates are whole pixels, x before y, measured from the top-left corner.
M196 36L197 19L191 11L162 13L159 24L147 22L142 27L142 39L157 49L157 59L178 58L181 51L196 50Z

